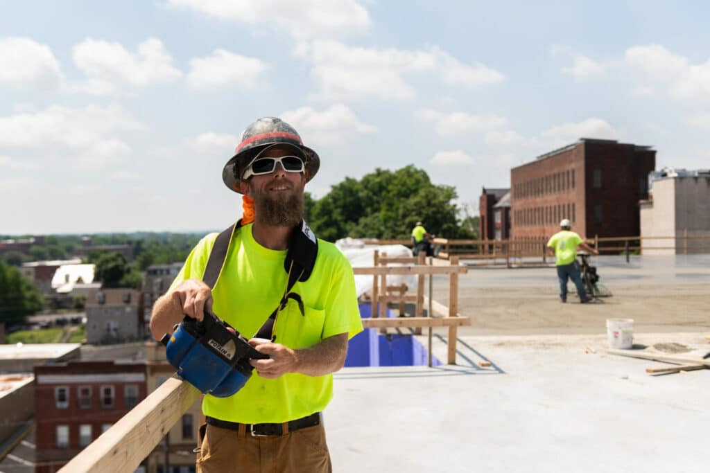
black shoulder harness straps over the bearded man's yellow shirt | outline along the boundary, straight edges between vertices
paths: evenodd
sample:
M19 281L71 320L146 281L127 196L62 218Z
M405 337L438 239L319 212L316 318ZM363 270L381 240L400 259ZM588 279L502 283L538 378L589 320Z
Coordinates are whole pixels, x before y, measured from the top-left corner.
M204 268L204 275L202 276L202 281L204 281L210 289L214 289L214 286L217 285L219 275L222 274L226 255L229 252L231 239L234 236L234 233L236 233L236 230L239 230L241 226L241 220L239 220L233 226L230 226L229 228L223 230L222 233L219 233L219 235L217 235L217 239L214 240L214 246L212 246L212 251L209 253L207 266ZM283 297L279 301L278 306L261 325L261 328L257 330L254 337L266 338L272 341L275 340L273 328L276 323L276 318L278 317L278 313L283 311L288 304L288 299L296 301L301 315L305 316L301 296L295 292L291 292L291 289L293 289L293 286L295 286L297 282L306 281L310 277L313 272L313 267L315 267L315 260L317 256L318 240L315 238L315 235L307 223L305 223L305 221L301 221L299 226L293 229L288 241L288 251L286 252L286 259L284 262L284 269L288 273L286 290L284 291Z

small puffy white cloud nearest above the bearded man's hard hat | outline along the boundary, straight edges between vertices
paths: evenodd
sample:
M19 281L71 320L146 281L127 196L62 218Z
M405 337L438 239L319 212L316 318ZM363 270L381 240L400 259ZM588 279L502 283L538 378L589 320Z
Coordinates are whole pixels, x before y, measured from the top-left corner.
M230 84L253 89L267 67L255 57L217 49L212 55L190 60L187 84L193 89L213 89Z

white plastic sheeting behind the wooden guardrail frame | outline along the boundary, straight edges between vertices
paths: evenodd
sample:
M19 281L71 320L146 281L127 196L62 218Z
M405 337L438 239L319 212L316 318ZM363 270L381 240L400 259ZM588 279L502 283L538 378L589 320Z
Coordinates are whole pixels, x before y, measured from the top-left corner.
M412 250L404 245L366 245L364 240L354 238L343 238L337 240L335 245L350 260L352 267L372 267L375 262L375 250L384 253L387 257L412 257ZM403 266L398 263L388 264L388 266ZM355 275L355 289L357 296L365 294L372 289L372 276L366 274ZM387 277L388 286L399 286L407 284L410 291L417 286L416 276L393 275Z

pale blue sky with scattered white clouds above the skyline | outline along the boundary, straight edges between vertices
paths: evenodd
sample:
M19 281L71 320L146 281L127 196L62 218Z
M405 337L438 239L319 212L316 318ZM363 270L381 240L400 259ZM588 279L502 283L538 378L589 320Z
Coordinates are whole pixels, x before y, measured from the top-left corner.
M579 138L710 167L701 1L0 0L0 234L226 228L222 167L283 118L315 198L425 169L482 187Z

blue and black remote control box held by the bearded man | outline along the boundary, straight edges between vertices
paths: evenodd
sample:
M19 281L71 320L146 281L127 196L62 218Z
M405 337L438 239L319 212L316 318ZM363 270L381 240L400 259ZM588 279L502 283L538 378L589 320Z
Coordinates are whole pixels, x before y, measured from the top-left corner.
M203 394L217 397L231 396L246 384L253 371L250 358L268 358L207 309L202 321L185 316L173 335L166 333L160 342L165 345L168 362L182 378Z

